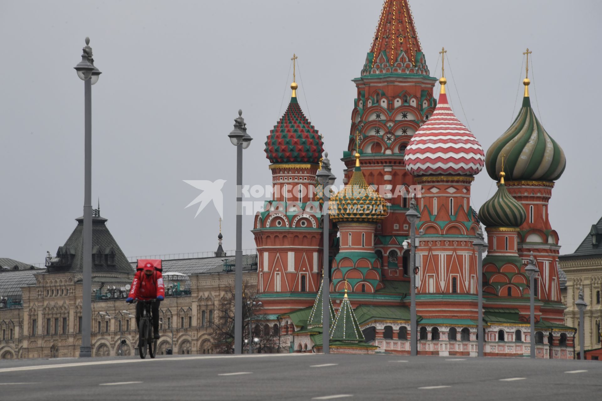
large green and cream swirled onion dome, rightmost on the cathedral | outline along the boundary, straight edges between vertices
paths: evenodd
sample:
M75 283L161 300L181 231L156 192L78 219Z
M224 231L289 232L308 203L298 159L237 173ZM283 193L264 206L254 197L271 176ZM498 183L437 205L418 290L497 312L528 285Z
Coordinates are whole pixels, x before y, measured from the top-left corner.
M487 173L495 180L504 165L507 180L556 181L565 170L565 154L535 117L529 79L523 84L523 107L512 126L489 147L485 157Z

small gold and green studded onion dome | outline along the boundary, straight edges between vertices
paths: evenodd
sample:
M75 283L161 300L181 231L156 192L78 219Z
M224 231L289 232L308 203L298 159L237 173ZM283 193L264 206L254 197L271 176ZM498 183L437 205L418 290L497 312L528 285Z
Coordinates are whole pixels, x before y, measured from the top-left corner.
M389 204L368 185L355 154L355 170L345 188L330 199L330 219L340 221L379 222L388 215Z

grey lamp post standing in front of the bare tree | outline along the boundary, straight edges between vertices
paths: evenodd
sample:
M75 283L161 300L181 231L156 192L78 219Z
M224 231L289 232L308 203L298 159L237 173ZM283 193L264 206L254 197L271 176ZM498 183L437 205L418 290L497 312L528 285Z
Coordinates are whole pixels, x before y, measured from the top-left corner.
M236 254L234 275L234 354L243 353L243 149L251 144L243 111L238 110L234 129L228 134L236 146Z

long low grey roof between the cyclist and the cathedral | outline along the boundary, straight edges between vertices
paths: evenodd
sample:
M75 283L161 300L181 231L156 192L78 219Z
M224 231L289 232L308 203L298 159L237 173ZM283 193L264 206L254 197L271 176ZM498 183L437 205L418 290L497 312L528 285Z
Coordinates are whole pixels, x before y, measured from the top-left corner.
M178 272L186 275L211 274L234 271L234 257L200 257L161 261L163 274ZM132 262L135 268L137 262ZM243 255L243 272L257 271L257 255Z

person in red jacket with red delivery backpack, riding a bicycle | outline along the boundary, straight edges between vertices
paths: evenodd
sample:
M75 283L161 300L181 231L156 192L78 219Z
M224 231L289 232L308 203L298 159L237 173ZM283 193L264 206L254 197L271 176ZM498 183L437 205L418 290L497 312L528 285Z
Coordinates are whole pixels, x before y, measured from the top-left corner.
M141 301L157 299L156 302L152 303L151 307L152 328L155 339L159 338L159 304L163 301L164 297L165 286L163 284L163 275L155 269L152 263L147 262L144 268L138 270L134 275L134 281L132 281L132 287L125 302L131 303L134 302L134 299L140 299ZM143 307L143 302L136 304L136 326L140 322Z

